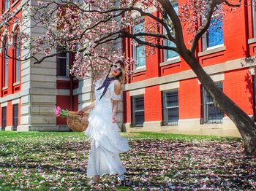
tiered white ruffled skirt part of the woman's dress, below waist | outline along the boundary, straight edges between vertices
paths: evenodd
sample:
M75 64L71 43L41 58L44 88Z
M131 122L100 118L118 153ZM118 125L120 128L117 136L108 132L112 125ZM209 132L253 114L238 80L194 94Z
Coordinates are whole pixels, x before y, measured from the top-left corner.
M99 112L100 111L100 112ZM111 114L94 109L89 117L89 126L85 131L91 140L91 150L87 165L87 176L103 174L124 174L119 153L129 150L128 138L123 138L118 125L111 122Z

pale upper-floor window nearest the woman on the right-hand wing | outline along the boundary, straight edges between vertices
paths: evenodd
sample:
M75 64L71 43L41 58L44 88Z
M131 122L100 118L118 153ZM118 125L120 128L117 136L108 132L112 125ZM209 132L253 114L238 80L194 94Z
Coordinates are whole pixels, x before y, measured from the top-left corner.
M138 34L145 32L145 21L137 23L133 28L132 33ZM138 36L138 39L145 41L145 36ZM146 66L146 47L142 44L133 45L133 58L136 59L138 66L136 69L143 68Z

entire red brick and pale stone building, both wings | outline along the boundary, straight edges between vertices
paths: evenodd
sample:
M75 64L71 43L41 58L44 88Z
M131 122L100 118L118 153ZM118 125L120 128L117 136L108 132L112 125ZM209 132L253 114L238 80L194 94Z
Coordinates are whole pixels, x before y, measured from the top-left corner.
M34 0L30 2L37 5ZM1 1L0 9L22 16L25 3L24 0ZM177 12L178 4L182 1L173 1ZM159 16L157 10L151 12ZM145 23L142 20L131 32L136 33ZM218 87L255 118L255 9L242 5L236 12L227 12L217 26L222 29L210 28L200 39L197 59ZM22 47L14 49L11 44L20 39L15 36L5 39L5 33L43 34L42 28L23 28L18 24L10 30L1 34L1 130L69 130L65 119L56 118L53 111L56 106L78 110L90 104L94 100L91 79L69 76L67 66L72 63L73 55L59 55L39 65L31 60L18 62L7 58L4 50L20 58L28 52ZM165 33L162 28L159 32ZM186 32L184 35L185 42L189 42L191 36ZM138 66L132 69L134 74L125 85L123 104L119 104L118 121L125 130L239 136L233 122L215 108L195 74L176 52L157 50L156 54L145 57L142 54L145 47L132 45L131 39L116 44L122 46L128 57L138 60Z

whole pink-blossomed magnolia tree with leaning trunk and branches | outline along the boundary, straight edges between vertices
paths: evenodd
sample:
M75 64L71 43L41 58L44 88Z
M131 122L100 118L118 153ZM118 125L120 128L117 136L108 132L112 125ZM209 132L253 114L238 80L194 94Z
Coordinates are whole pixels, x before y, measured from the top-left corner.
M230 9L220 9L222 4ZM256 155L255 123L218 89L195 56L200 38L210 25L214 25L212 20L217 19L213 19L213 15L223 16L223 12L233 11L233 7L241 6L241 0L237 4L228 0L188 0L179 5L181 12L178 15L169 0L83 0L60 3L38 1L38 5L39 7L29 9L29 17L33 18L34 26L45 28L45 35L35 39L23 35L23 38L30 39L31 55L28 58L34 58L35 63L41 63L45 58L63 52L51 52L57 44L61 44L63 47L69 47L67 52L75 53L72 74L85 77L92 72L97 76L98 71L105 70L110 61L122 58L128 66L134 63L131 58L120 56L118 50L115 50L115 54L109 51L109 47L112 47L112 43L118 38L131 38L132 43L146 45L146 54L154 53L155 49L173 50L181 55L195 72L213 98L214 105L233 120L244 140L246 154ZM160 17L152 14L150 9L158 10ZM141 17L147 18L147 27L143 31L132 33L131 27L139 22ZM159 33L161 28L165 29L166 34ZM184 42L186 30L183 28L186 28L191 36L189 43ZM175 45L164 45L163 39ZM45 57L38 59L37 52L42 51L45 51Z

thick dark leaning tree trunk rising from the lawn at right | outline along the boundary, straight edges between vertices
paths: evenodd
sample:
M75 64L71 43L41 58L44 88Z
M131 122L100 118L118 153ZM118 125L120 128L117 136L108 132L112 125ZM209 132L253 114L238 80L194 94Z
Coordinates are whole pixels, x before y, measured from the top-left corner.
M211 77L206 74L199 61L188 50L181 54L185 61L189 64L192 71L195 72L197 78L206 88L207 92L211 95L214 105L217 106L222 112L225 112L228 117L235 123L241 137L244 140L244 149L246 155L256 156L256 125L255 122L230 98L219 90L217 85Z

